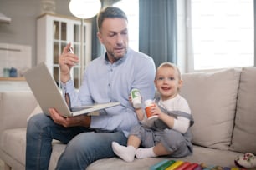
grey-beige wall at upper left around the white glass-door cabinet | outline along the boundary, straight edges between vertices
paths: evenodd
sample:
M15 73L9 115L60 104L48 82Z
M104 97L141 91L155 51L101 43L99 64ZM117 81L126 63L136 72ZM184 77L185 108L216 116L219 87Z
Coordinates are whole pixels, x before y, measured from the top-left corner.
M0 0L0 12L12 18L0 23L0 43L32 47L32 65L36 63L36 19L41 14L40 0ZM72 16L69 0L55 0L55 13Z

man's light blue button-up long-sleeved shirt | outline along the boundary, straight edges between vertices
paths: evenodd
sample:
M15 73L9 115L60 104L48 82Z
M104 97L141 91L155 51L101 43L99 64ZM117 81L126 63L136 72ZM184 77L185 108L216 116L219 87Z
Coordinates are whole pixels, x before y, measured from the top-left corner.
M100 116L92 116L90 128L121 130L127 135L131 127L138 124L129 102L131 89L138 88L143 101L152 99L155 73L151 57L128 49L125 56L113 64L105 54L91 61L85 69L79 92L75 91L72 80L62 84L63 92L69 93L71 107L94 102L120 102L120 106L102 110Z

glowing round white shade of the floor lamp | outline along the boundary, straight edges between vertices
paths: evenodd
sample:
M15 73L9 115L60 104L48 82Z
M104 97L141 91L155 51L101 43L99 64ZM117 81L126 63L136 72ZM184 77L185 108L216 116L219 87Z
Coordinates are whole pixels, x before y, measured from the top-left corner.
M99 13L101 7L100 0L70 0L69 10L74 17L87 19L93 18Z

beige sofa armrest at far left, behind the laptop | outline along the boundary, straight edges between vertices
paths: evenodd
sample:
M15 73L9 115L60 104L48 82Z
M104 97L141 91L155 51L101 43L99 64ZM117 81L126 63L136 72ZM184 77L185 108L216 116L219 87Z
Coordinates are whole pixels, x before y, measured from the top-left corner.
M31 91L0 92L0 133L27 127L27 118L37 104Z

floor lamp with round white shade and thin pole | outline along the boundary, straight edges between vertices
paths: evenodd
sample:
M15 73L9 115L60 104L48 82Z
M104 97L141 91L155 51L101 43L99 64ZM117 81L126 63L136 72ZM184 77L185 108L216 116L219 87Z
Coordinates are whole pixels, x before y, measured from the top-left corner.
M76 18L81 19L80 27L80 80L83 79L84 72L84 19L93 18L97 13L99 13L101 8L100 0L70 0L69 11Z

